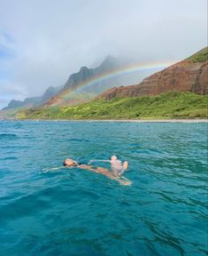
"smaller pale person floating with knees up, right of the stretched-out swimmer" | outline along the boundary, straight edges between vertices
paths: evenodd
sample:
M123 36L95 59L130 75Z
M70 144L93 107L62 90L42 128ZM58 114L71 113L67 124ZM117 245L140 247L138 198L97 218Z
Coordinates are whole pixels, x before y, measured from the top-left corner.
M117 156L112 156L111 160L91 160L89 163L96 161L110 163L115 177L120 177L127 170L127 161L122 163Z

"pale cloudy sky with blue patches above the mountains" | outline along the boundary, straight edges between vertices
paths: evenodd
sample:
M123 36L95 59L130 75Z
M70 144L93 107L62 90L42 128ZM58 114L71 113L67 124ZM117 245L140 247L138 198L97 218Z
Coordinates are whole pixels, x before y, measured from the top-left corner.
M207 45L206 0L0 0L0 108L107 55L172 62Z

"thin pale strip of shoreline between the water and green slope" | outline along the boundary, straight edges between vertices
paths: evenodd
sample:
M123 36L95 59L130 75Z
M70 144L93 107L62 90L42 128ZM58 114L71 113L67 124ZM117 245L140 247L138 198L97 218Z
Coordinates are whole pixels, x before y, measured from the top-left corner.
M2 119L0 121L89 122L89 123L208 123L208 119Z

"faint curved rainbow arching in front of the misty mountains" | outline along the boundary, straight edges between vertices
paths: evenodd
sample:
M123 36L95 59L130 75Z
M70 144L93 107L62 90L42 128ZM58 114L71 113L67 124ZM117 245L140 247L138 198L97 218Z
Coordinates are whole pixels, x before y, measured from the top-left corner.
M112 71L108 71L105 73L102 73L100 76L93 76L87 81L84 81L81 84L78 84L78 87L73 91L76 93L81 92L83 89L86 89L90 87L93 84L96 83L102 83L108 79L117 77L117 76L126 76L130 73L138 72L138 71L143 71L143 70L150 70L150 69L157 69L157 70L162 70L163 68L166 68L170 65L173 65L175 61L173 62L155 62L155 63L136 63L134 65L129 65L126 67L118 68L118 69L112 69ZM67 98L70 99L70 95L72 94L71 90L68 90L62 94L62 99L66 100Z

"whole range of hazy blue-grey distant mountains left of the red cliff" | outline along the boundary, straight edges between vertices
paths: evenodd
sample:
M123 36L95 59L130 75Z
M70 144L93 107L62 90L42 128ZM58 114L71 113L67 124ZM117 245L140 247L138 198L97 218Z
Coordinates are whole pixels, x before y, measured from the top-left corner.
M50 86L43 92L42 96L27 97L25 100L11 100L7 107L2 110L13 108L34 108L45 104L45 106L54 106L56 104L76 104L81 101L91 100L96 95L108 90L114 86L135 84L142 81L145 76L149 76L153 70L138 70L137 72L121 72L117 76L109 76L116 71L125 70L127 66L132 65L133 60L117 59L108 55L96 68L82 66L77 73L73 73L66 80L64 85ZM102 79L103 76L106 76ZM101 78L101 79L99 79ZM91 81L91 82L90 82ZM90 83L89 83L90 82ZM88 84L88 86L83 86ZM65 96L67 94L67 96ZM60 97L65 97L60 103ZM56 103L56 100L58 102Z

